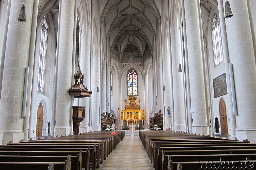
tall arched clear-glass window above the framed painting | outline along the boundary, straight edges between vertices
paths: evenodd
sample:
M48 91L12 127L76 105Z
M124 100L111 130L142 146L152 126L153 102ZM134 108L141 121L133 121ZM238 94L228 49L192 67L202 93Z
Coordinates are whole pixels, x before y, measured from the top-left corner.
M215 66L217 66L218 64L223 62L223 50L220 35L220 20L217 15L214 15L212 19L212 42L214 51L214 63Z

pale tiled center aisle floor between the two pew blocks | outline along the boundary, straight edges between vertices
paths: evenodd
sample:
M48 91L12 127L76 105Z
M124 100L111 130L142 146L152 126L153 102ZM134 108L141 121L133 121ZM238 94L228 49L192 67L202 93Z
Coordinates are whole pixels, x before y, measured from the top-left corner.
M126 131L125 131L126 132ZM145 169L154 170L139 135L125 135L120 144L100 166L101 170Z

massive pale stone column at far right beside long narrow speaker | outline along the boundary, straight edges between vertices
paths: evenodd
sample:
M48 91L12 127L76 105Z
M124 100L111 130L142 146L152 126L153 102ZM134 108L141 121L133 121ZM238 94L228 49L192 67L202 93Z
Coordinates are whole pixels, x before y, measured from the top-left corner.
M230 3L233 17L225 19L228 52L236 92L236 137L256 142L256 67L247 0Z

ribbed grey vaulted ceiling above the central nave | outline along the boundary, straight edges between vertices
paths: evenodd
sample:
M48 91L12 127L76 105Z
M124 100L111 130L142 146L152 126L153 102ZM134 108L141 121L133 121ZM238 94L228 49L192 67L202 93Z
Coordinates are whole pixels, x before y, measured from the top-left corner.
M129 44L141 52L146 44L152 47L156 36L156 24L160 20L160 1L154 0L101 0L101 24L106 25L111 47L120 52Z

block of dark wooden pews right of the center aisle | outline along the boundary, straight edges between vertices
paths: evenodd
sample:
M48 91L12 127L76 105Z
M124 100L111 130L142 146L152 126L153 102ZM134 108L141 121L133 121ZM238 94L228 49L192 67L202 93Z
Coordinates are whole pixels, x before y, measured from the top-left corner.
M140 131L156 170L256 169L256 144L174 131Z

